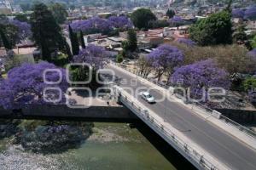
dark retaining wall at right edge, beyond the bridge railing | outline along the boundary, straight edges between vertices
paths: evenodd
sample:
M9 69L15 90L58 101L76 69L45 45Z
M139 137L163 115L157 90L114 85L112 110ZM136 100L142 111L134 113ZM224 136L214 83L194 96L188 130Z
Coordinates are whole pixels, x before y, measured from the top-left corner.
M222 115L229 117L231 120L238 123L253 123L256 122L256 111L232 110L232 109L215 109Z

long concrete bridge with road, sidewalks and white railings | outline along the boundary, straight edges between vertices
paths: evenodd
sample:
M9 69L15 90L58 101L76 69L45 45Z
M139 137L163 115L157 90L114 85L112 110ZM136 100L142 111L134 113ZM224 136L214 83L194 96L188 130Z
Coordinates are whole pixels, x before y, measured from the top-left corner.
M109 64L114 71L113 94L143 122L198 169L256 169L254 133L217 111L164 99L154 105L137 98L131 89L150 88L160 99L165 89ZM136 82L136 83L134 83ZM174 97L172 97L174 98ZM223 119L223 120L220 120Z

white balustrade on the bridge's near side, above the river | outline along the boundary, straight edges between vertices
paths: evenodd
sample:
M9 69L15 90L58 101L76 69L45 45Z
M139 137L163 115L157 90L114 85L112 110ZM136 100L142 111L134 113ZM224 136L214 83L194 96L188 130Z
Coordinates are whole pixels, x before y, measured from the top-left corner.
M190 159L196 161L201 167L209 170L217 170L211 161L207 160L207 158L201 155L197 150L191 147L189 144L185 143L182 139L178 138L175 133L172 133L172 130L165 127L161 122L155 119L153 116L150 116L150 113L147 110L144 110L140 105L133 102L134 100L129 99L125 94L122 94L120 91L117 92L119 97L126 103L126 105L130 105L132 109L134 109L137 114L143 119L143 121L150 122L151 125L156 127L161 133L164 133L165 136L172 141L180 150L183 150Z

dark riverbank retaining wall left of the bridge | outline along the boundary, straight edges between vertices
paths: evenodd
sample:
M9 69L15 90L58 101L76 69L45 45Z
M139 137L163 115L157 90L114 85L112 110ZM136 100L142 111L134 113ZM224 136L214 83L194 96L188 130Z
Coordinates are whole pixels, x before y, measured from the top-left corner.
M0 108L0 116L9 116L11 111ZM22 116L53 116L90 119L133 119L136 118L124 106L91 106L87 109L71 109L67 105L28 105Z

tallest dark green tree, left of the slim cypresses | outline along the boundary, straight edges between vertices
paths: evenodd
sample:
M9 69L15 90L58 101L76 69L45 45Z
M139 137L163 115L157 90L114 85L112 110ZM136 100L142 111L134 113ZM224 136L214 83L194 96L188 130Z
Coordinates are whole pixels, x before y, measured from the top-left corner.
M64 47L65 39L61 35L61 27L44 3L37 3L31 15L32 36L41 49L42 58L51 60L51 54Z

